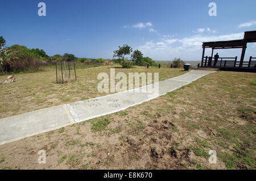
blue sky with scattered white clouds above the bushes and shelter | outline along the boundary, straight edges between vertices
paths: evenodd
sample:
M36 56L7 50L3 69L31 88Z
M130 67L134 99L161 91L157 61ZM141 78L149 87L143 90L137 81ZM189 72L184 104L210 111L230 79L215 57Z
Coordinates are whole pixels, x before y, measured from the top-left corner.
M46 3L46 16L38 16L39 2ZM209 16L210 2L217 16ZM49 56L112 58L128 44L154 60L200 60L202 41L242 39L256 30L255 7L255 0L9 0L1 2L0 36L7 46L40 48ZM256 56L256 44L247 47L245 59ZM218 52L241 55L240 49Z

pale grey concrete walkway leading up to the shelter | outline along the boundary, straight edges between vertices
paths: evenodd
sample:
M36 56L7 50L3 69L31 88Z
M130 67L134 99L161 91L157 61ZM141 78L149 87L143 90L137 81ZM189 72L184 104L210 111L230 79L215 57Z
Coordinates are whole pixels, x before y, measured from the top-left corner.
M179 77L170 78L153 85L140 87L139 89L127 90L99 98L0 119L0 145L39 133L53 131L94 117L125 110L128 107L155 99L160 95L178 89L213 72L192 70ZM158 94L152 91L157 86L159 87ZM151 87L152 89L150 89Z

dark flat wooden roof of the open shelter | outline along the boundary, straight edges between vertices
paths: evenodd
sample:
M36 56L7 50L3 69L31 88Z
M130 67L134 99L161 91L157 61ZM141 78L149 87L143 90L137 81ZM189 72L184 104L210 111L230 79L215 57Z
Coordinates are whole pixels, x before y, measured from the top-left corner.
M203 48L212 49L228 49L228 48L243 48L247 43L256 42L256 31L246 31L243 39L229 41L210 41L203 42Z

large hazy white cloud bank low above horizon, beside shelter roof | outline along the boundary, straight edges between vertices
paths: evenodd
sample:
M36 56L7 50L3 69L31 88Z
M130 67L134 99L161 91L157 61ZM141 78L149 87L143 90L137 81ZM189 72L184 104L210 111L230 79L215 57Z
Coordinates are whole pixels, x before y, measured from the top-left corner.
M230 33L227 35L196 35L174 39L173 36L162 36L162 41L147 41L138 47L144 56L150 56L155 60L172 60L181 57L185 60L200 60L202 43L207 41L225 41L243 39L243 32Z

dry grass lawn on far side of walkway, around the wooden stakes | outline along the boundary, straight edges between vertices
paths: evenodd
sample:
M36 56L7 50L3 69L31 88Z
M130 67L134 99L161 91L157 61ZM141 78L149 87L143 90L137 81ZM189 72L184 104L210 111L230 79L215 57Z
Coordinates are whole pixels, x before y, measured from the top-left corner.
M97 75L102 72L110 75L110 68L115 68L115 74L121 71L126 73L127 77L129 72L159 72L159 81L187 73L181 71L182 69L147 69L140 66L121 69L118 65L109 65L77 69L77 81L64 84L55 83L55 67L38 73L19 73L15 74L16 82L0 85L0 118L110 94L99 93L97 90L100 82L97 80ZM0 81L5 80L6 77L7 75L1 75Z

